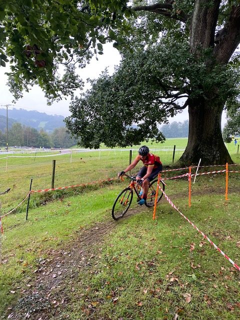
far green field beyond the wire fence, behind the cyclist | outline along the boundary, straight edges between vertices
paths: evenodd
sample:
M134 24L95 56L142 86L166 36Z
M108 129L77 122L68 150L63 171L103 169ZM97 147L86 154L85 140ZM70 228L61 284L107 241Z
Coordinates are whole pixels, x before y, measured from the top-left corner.
M155 149L166 147L166 151L156 151L160 155L165 165L172 163L172 148L182 149L187 143L186 138L167 139L164 143L148 143L150 149L154 152ZM132 159L137 154L138 146L133 146L135 150L132 152ZM168 149L167 149L168 148ZM236 153L236 146L233 142L227 144L227 148L232 155L233 161L240 162L240 155ZM39 154L47 154L50 152L37 152ZM57 153L59 154L59 152ZM175 160L177 160L182 151L176 151ZM5 156L5 155L4 155ZM9 209L15 207L28 193L30 179L32 178L31 189L45 189L51 187L52 175L52 159L56 159L55 180L54 187L75 185L96 180L106 179L108 177L116 177L116 172L124 169L129 162L129 151L119 149L109 149L107 151L91 151L91 152L77 152L70 154L61 154L53 157L39 157L32 156L25 158L8 158L7 160L0 159L1 185L0 191L10 187L9 193L1 197L2 212L5 213ZM70 162L71 160L71 162ZM7 169L6 169L7 161ZM139 164L140 166L140 164ZM137 168L136 168L137 170ZM77 190L74 191L76 193ZM56 197L61 197L71 191L62 191L55 193ZM44 202L42 195L34 195L30 200L30 207L36 207ZM25 209L21 207L20 210Z

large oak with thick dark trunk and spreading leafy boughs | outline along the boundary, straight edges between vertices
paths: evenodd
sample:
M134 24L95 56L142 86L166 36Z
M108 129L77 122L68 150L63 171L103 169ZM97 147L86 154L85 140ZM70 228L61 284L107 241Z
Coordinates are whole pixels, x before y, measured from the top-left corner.
M133 6L122 62L71 103L69 129L89 147L161 140L157 127L188 107L188 143L180 162L231 163L221 134L226 101L238 98L238 1L159 1ZM117 32L116 32L117 33ZM122 36L122 34L121 34ZM117 36L116 36L117 39ZM137 123L136 127L134 124Z

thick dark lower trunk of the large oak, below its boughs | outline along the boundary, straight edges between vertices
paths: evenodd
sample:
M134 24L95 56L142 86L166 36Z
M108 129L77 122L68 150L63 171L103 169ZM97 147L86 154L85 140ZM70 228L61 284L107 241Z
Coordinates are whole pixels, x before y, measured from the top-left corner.
M233 163L221 135L224 103L196 99L188 106L189 133L185 151L178 163L184 165Z

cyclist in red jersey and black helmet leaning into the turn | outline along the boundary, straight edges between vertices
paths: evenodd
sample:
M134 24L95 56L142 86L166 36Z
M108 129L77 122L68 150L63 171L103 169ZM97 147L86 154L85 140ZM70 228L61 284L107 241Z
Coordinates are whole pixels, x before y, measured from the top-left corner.
M143 162L143 167L137 172L137 183L142 185L143 192L138 204L142 205L146 202L147 192L149 188L149 182L153 180L157 174L162 170L162 163L159 156L149 153L149 148L146 145L142 145L138 150L138 155L129 164L124 171L118 172L117 176L123 175L125 172L133 169L139 161Z

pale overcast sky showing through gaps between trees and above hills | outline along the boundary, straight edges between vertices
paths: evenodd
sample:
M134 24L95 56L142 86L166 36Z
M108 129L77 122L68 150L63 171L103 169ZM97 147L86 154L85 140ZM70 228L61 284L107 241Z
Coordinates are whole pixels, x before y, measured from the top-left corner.
M98 55L98 61L93 57L84 69L79 69L79 75L83 80L88 77L97 78L106 67L111 74L114 71L114 66L117 65L119 61L120 55L117 49L113 48L111 43L106 43L104 45L104 54ZM2 107L1 104L11 104L13 100L13 96L6 85L7 76L4 74L4 72L8 70L7 67L0 66L0 107ZM62 99L59 102L54 102L50 106L47 105L42 90L38 86L34 86L29 92L24 92L23 98L19 99L14 107L67 116L70 114L68 106L69 99ZM9 108L12 108L12 106L9 106ZM169 118L169 122L184 121L186 119L188 119L187 108L184 109L182 113L177 114L173 118ZM223 114L222 125L224 125L225 121L225 114Z

